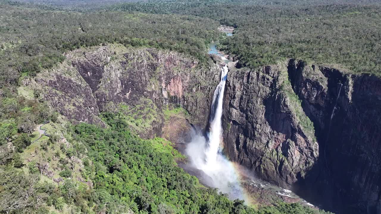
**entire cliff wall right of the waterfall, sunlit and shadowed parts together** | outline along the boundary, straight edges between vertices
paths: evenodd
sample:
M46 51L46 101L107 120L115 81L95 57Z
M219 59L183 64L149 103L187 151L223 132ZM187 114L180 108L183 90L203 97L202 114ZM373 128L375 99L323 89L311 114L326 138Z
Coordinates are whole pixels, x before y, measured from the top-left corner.
M381 213L381 80L291 59L229 73L229 157L323 208Z

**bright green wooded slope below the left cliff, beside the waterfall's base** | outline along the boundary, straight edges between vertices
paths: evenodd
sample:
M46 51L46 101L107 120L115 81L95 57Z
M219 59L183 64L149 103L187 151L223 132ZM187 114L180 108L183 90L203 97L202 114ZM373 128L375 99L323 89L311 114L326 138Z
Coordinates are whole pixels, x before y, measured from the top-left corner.
M184 157L170 142L140 139L112 113L104 120L110 128L67 126L64 141L37 142L34 155L28 147L21 160L1 164L0 213L324 213L286 203L255 210L228 200L177 167Z

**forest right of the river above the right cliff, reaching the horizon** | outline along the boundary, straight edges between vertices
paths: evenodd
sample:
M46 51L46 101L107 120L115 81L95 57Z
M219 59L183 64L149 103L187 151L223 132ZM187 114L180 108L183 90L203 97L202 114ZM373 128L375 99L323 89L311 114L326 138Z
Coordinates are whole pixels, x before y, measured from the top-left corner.
M220 48L242 65L282 58L341 64L351 72L381 71L381 6L376 1L152 1L122 3L114 10L189 14L237 29ZM288 4L286 4L288 2Z

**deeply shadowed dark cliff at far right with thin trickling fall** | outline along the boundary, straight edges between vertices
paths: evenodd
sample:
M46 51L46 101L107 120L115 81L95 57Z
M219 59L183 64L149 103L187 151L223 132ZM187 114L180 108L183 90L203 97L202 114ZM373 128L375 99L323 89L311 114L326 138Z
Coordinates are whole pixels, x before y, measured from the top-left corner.
M301 187L315 183L309 194L343 213L381 213L381 79L295 60L288 70L324 157Z

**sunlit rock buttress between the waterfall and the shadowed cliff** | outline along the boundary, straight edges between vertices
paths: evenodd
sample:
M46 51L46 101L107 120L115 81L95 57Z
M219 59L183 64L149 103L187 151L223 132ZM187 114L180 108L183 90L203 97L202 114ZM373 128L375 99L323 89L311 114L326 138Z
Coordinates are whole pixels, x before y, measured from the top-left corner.
M229 157L285 188L304 178L319 157L319 145L301 125L306 115L291 92L284 64L239 69L229 73L224 103Z

